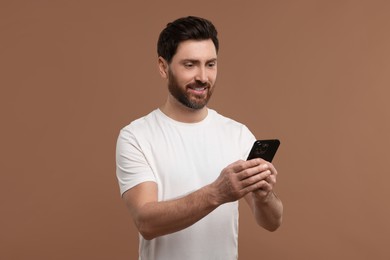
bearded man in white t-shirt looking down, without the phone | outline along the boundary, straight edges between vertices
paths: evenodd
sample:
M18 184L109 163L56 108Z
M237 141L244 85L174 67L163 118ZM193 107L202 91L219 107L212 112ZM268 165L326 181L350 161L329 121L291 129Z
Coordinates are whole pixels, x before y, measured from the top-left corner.
M254 135L206 106L218 48L210 21L169 23L157 48L168 98L119 134L117 177L140 233L139 259L237 259L241 198L261 227L281 224L276 169L262 159L246 161Z

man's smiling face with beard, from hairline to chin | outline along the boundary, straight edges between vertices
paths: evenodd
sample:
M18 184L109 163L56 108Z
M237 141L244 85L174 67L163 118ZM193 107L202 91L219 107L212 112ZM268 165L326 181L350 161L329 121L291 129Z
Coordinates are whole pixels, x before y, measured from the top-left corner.
M181 42L168 67L168 89L182 105L207 105L217 77L217 53L212 40Z

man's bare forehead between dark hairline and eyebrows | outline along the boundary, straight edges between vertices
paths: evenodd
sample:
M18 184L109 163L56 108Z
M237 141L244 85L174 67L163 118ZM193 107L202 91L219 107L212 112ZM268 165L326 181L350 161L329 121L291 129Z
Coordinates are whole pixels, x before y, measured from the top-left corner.
M174 59L210 60L217 58L217 51L211 39L187 40L179 44Z

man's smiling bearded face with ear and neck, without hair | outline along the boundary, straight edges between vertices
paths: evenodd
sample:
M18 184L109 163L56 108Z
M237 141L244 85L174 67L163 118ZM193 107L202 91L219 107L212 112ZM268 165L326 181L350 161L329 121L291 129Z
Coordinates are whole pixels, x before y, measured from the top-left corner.
M161 110L183 122L197 122L205 118L205 106L217 78L217 53L213 41L182 42L169 64L159 57L159 68L161 76L168 79L170 92Z

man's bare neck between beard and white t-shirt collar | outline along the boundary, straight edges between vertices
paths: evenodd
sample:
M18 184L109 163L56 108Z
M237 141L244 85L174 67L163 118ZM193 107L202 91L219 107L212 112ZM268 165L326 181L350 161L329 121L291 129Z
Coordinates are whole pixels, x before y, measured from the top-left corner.
M207 116L207 107L202 109L192 109L179 103L177 100L167 100L160 110L173 120L182 123L197 123L202 121Z

